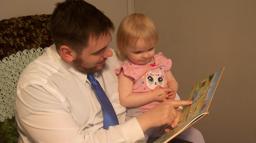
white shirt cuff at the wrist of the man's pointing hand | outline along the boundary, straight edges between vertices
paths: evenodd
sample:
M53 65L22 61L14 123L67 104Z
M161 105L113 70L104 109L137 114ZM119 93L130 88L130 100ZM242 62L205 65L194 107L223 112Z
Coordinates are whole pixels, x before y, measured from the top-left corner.
M144 133L136 117L129 119L120 125L128 143L135 143L145 139Z

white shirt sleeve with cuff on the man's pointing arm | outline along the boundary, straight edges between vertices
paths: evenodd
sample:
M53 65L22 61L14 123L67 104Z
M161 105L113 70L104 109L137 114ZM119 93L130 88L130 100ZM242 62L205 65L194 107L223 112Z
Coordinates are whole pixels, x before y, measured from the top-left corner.
M47 85L30 84L17 89L15 116L24 142L36 143L132 143L144 139L136 118L108 130L81 129L74 122L68 104L48 90ZM46 90L47 89L47 90ZM89 115L88 115L89 116Z

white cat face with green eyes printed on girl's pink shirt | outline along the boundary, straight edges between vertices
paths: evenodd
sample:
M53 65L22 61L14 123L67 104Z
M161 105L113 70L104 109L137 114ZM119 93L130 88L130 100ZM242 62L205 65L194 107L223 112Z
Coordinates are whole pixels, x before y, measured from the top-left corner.
M152 73L150 70L149 72L146 73L146 83L148 88L154 89L157 85L161 85L163 87L164 85L164 80L163 80L163 75L162 72L159 71L158 73Z

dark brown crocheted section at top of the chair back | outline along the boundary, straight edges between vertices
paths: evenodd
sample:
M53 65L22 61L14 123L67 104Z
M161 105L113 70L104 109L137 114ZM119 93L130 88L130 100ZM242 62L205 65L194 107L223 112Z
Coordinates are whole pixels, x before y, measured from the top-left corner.
M49 47L50 14L22 16L0 21L0 60L24 49Z

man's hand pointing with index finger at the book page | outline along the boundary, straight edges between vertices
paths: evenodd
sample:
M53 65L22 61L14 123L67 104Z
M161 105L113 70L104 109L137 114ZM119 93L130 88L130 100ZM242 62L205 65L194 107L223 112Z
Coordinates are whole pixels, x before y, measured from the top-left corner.
M171 126L178 116L175 108L177 109L182 105L190 105L192 101L184 100L168 100L157 104L149 111L136 117L143 132L149 128L160 126Z

